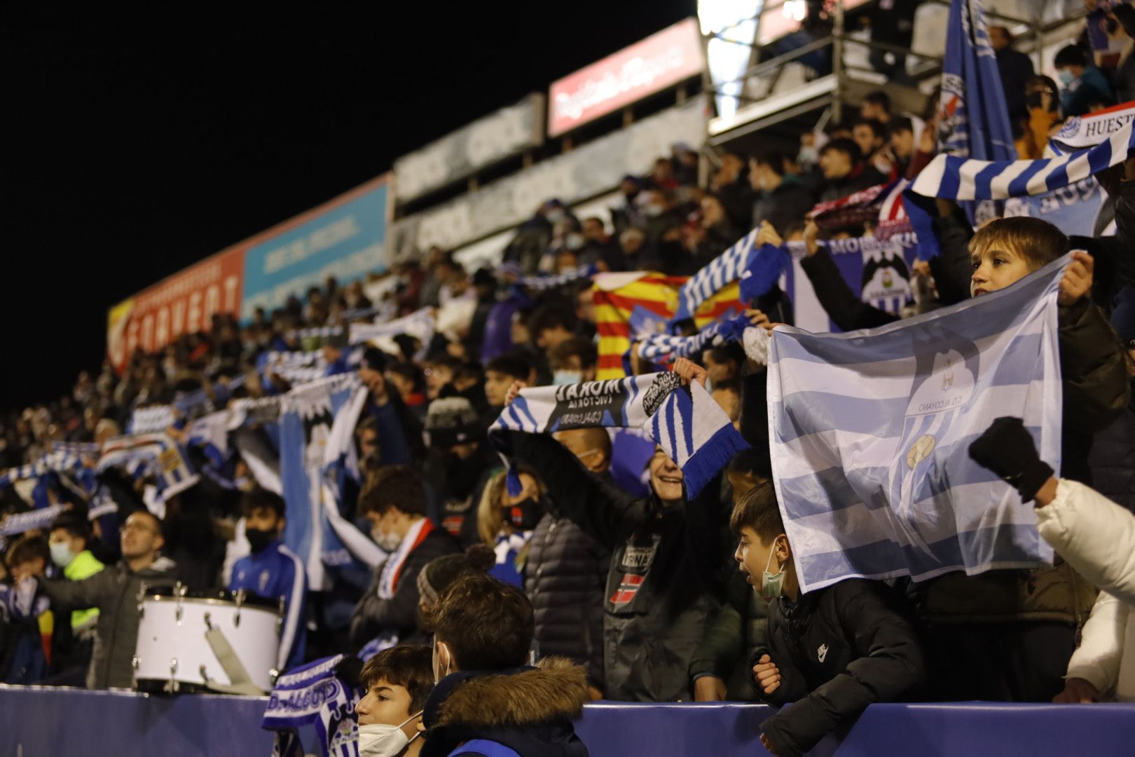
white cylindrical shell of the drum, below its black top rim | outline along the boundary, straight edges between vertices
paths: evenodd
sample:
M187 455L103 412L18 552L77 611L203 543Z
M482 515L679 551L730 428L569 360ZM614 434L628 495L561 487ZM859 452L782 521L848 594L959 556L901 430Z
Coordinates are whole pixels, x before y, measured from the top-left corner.
M178 612L180 611L180 612ZM205 623L205 614L209 623ZM239 622L237 622L239 617ZM205 639L209 624L220 629L249 678L264 691L272 690L272 671L279 654L278 614L264 607L224 599L176 596L145 596L135 648L138 681L166 683L170 680L204 687L204 674L215 683L232 681ZM176 661L176 668L170 667Z

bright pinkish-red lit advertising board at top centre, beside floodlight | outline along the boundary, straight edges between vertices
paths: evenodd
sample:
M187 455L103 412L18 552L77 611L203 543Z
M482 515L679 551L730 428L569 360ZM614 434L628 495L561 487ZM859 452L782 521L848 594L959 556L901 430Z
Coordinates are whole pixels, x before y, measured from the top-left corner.
M548 136L560 136L704 69L697 19L678 22L553 83Z

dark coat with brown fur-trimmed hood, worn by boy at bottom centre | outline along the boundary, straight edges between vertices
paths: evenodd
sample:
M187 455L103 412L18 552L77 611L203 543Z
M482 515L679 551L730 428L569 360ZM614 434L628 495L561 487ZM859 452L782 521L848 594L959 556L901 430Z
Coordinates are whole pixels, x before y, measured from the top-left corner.
M587 757L572 726L587 699L587 672L557 657L518 671L453 673L426 701L421 755L442 757L484 739L521 757Z

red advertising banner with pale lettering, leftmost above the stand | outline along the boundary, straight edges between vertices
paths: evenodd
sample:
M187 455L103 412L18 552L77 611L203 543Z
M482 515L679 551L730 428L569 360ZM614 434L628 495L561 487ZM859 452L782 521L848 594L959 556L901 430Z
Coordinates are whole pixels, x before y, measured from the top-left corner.
M218 252L111 308L107 354L115 370L137 348L153 352L183 334L208 331L216 313L239 317L246 247Z

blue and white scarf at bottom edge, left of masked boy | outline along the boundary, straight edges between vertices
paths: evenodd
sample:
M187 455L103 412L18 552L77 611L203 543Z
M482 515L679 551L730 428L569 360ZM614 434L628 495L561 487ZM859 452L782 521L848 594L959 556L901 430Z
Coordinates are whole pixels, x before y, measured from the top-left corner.
M361 692L335 675L343 655L308 663L276 681L260 727L277 732L284 752L296 731L312 726L325 757L359 757L359 718L354 706Z

